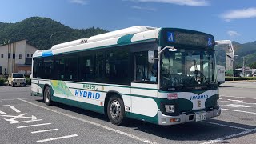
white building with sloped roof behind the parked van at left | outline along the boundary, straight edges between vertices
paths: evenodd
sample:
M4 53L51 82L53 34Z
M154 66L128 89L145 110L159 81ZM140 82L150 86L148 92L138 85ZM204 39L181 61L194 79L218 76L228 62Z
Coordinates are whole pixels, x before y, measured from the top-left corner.
M0 46L0 75L31 73L32 56L38 50L26 40Z

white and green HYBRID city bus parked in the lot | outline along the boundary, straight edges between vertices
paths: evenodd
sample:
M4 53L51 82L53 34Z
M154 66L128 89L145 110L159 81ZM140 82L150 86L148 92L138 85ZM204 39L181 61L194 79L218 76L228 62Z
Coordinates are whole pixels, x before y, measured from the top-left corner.
M116 125L206 120L221 114L215 43L194 30L133 26L58 44L34 53L32 94Z

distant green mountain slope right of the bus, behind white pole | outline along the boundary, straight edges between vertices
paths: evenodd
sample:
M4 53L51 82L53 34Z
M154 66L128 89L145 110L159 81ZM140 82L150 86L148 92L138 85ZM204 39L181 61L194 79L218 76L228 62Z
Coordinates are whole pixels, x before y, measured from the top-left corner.
M232 42L234 46L235 66L242 66L243 58L245 58L246 66L256 62L256 41L241 44ZM227 46L216 46L217 64L225 66Z

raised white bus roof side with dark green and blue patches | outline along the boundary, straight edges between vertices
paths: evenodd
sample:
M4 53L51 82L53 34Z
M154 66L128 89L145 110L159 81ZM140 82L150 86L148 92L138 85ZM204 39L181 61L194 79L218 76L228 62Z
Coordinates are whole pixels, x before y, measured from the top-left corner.
M130 43L156 41L162 28L150 26L132 26L90 38L82 38L71 42L54 45L50 50L37 50L33 58L48 57L77 51L93 50L110 46L122 46Z

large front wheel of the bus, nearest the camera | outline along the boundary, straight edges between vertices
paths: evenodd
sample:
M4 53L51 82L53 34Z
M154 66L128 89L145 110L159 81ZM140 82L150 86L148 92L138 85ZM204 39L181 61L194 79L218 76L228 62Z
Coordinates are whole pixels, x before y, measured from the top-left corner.
M107 116L114 125L121 125L125 117L125 106L121 98L112 96L107 104Z

